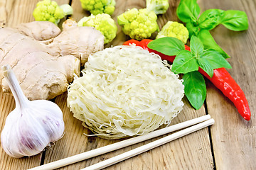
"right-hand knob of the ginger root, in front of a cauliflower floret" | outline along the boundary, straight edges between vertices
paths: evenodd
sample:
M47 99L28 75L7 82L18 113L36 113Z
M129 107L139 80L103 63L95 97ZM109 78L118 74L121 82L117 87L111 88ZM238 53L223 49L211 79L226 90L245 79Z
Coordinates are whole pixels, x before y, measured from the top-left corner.
M104 36L93 27L78 27L74 20L68 19L63 23L63 32L48 47L52 55L78 57L83 66L90 54L103 50Z

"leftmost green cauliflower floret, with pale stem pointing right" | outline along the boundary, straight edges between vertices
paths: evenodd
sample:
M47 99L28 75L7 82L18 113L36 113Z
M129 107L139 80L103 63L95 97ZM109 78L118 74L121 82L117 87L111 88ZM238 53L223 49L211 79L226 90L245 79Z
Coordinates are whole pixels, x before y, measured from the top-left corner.
M39 1L33 11L33 17L36 21L50 21L56 25L60 19L72 14L73 8L70 5L58 6L57 2L50 0Z

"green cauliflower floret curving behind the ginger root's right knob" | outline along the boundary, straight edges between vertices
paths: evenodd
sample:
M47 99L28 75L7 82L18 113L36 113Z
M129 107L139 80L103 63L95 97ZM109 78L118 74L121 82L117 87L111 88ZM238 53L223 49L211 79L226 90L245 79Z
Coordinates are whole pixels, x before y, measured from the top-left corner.
M105 44L114 40L117 35L117 25L107 13L100 13L96 16L93 14L88 17L85 16L78 21L78 26L89 26L96 28L96 30L100 30L100 33L105 36Z

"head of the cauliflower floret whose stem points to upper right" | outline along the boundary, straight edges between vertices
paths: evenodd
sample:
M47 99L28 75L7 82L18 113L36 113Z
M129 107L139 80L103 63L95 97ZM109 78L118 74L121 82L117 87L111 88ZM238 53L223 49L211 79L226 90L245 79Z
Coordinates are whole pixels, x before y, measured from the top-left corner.
M117 22L122 26L124 34L136 40L150 38L152 33L159 31L156 19L156 13L146 8L132 8L117 16Z

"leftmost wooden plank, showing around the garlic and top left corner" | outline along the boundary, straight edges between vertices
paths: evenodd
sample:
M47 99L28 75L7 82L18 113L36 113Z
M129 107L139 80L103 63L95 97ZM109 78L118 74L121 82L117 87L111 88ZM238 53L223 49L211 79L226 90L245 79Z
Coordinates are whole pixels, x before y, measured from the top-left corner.
M0 27L15 27L19 23L34 21L33 9L38 1L35 0L1 0L0 1ZM68 3L68 0L60 0L58 4ZM15 108L13 96L3 94L0 90L0 132L4 128L7 115ZM34 157L16 159L9 157L0 147L0 169L29 169L39 166L42 154Z

